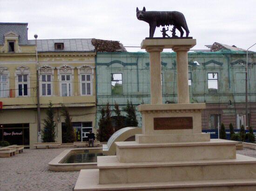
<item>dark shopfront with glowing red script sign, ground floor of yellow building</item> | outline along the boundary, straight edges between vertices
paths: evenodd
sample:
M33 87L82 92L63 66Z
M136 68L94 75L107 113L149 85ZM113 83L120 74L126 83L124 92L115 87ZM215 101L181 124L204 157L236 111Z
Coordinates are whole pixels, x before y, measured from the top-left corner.
M29 146L29 123L0 124L0 140L10 145Z

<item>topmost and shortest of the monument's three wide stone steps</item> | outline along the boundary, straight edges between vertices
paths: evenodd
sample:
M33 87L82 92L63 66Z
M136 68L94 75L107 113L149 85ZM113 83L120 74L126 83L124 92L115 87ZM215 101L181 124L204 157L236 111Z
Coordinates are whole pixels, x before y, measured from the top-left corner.
M202 142L137 143L115 142L120 162L235 159L237 141L211 139Z

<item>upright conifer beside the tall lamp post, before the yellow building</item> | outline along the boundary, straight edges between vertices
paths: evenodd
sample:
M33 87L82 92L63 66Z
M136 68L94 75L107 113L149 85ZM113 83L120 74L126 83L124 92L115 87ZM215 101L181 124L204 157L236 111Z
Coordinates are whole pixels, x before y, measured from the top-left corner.
M52 102L49 102L49 107L46 111L47 119L44 119L44 129L42 130L42 141L55 142L55 127L54 122L54 109Z

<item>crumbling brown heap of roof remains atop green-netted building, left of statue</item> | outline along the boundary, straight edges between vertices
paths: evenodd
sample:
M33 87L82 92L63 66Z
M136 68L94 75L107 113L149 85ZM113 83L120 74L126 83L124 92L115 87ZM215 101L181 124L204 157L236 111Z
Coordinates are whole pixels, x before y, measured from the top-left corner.
M94 45L96 52L127 52L125 47L119 41L93 38L92 44Z

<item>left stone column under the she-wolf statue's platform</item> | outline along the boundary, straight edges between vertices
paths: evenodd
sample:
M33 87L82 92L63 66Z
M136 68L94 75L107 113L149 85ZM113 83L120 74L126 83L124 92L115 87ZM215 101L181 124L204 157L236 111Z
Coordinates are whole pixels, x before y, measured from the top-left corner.
M162 46L147 47L150 58L150 98L151 104L162 104L162 84L161 84L161 56Z

